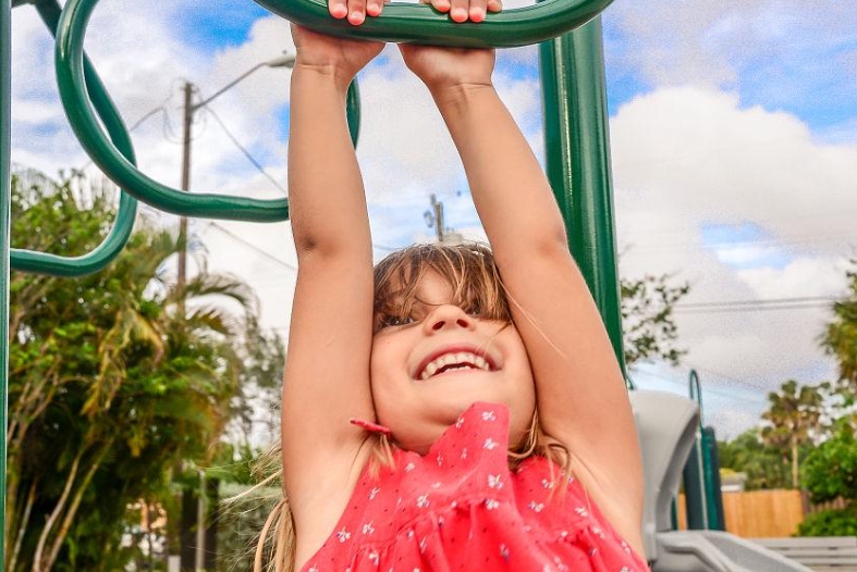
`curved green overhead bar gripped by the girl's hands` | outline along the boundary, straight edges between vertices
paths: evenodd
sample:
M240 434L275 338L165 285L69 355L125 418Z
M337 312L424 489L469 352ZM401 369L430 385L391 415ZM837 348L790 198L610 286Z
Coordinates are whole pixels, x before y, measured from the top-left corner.
M488 14L478 24L453 23L448 14L424 4L392 3L380 16L369 17L360 26L331 17L326 0L255 1L295 24L331 36L462 48L517 48L571 32L596 17L613 0L547 0Z

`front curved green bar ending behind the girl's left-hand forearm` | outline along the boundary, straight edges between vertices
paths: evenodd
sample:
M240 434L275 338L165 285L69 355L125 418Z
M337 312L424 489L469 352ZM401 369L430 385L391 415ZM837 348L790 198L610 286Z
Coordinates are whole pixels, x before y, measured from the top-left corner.
M122 157L98 124L84 79L83 42L96 3L96 0L70 0L65 4L57 33L57 80L75 135L105 174L138 199L175 214L256 222L289 219L285 199L183 192L144 175Z

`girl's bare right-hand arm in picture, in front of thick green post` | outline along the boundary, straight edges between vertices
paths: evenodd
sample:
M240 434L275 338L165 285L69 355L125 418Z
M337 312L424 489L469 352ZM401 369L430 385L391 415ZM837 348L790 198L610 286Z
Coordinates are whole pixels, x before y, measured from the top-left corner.
M464 162L530 357L541 425L568 447L578 478L638 544L642 471L624 380L550 185L491 83L493 53L402 51Z

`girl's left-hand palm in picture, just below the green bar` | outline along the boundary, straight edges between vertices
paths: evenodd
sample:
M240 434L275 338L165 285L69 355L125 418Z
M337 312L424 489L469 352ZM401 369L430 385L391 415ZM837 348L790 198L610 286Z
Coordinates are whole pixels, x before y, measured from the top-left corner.
M292 38L297 48L295 69L311 67L346 83L351 83L384 47L378 41L334 38L296 25L292 25Z

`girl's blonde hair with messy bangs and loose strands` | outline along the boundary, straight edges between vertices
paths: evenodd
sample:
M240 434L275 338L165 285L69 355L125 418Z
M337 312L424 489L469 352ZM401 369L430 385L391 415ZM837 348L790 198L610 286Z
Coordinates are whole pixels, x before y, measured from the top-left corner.
M402 318L411 313L417 297L418 285L427 272L437 273L445 281L453 293L453 303L468 313L486 320L512 324L509 297L494 264L490 248L478 243L461 245L414 245L393 252L375 268L375 304L372 324L378 329L388 318ZM370 474L377 475L381 467L393 464L392 445L384 435L372 435L376 439L374 456L370 460ZM541 428L538 411L526 438L509 451L510 469L514 470L525 459L542 456L551 461L551 478L571 475L572 457L568 449ZM282 477L280 448L265 455L259 467L267 468L268 484ZM559 475L554 474L559 468ZM289 500L283 489L283 498L268 517L256 546L254 572L294 572L295 569L295 526ZM556 487L560 495L565 487ZM267 563L266 563L267 562Z

